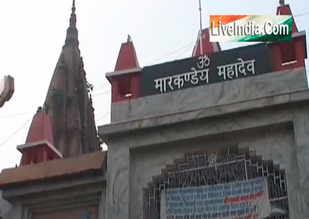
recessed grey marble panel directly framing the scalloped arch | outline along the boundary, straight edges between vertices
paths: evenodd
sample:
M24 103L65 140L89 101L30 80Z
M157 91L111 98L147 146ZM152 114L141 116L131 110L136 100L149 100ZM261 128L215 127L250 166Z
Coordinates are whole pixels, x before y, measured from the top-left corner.
M262 155L263 160L273 160L285 168L288 180L291 219L301 219L297 157L291 124L253 129L243 132L218 135L198 142L172 143L163 146L131 150L130 159L130 219L142 219L142 189L159 175L167 164L184 157L186 152L205 150L208 153L229 146L249 147Z

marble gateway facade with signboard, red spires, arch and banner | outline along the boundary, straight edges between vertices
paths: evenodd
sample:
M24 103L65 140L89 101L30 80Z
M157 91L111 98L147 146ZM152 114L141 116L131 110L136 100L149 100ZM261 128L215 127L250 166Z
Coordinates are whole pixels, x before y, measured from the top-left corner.
M106 218L307 219L305 36L292 19L292 42L221 51L205 29L204 54L197 40L192 57L144 68L123 43L98 129Z

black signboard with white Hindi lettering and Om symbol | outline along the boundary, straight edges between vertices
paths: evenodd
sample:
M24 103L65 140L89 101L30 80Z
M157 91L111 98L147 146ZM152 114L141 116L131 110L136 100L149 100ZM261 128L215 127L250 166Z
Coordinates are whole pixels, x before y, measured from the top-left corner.
M269 56L263 43L145 67L140 94L148 96L270 73Z

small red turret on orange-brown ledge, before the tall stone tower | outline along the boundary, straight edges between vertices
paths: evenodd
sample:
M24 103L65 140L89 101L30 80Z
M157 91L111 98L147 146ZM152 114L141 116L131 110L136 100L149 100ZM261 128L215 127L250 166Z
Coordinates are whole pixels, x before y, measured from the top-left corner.
M50 118L41 108L33 117L26 144L17 146L17 149L22 153L21 165L43 163L62 157L54 146Z

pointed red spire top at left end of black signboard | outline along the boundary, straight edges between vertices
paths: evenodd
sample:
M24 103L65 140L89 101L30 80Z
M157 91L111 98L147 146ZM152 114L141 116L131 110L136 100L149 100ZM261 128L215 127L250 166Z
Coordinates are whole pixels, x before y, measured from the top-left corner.
M121 44L115 71L133 68L139 68L139 64L132 39L130 35L128 35L127 42Z

